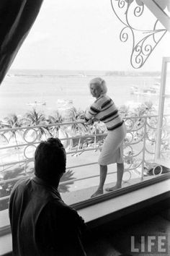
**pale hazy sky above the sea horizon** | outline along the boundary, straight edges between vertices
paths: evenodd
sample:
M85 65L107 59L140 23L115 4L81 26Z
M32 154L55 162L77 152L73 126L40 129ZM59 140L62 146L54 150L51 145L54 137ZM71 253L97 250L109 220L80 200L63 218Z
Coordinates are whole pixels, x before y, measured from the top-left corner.
M123 27L109 0L44 0L12 68L134 70L132 40L120 41ZM169 45L166 33L140 71L161 70Z

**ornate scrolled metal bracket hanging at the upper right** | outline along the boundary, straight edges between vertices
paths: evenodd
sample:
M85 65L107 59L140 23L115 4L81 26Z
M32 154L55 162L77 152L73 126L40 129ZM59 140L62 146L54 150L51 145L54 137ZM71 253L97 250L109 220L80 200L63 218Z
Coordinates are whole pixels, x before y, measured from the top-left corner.
M144 13L144 4L140 0L111 0L111 4L117 18L125 25L120 31L120 40L126 42L129 36L132 35L133 46L130 64L133 68L139 69L143 67L143 64L145 64L167 30L158 28L160 26L158 20L150 30L138 29L137 24L139 22L136 19ZM142 26L142 24L140 25Z

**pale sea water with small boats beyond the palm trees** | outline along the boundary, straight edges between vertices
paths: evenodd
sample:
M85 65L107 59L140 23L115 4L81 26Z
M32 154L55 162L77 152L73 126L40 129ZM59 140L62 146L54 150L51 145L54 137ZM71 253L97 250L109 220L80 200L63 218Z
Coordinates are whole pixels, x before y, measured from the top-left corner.
M33 107L29 103L46 102L36 106L45 114L58 109L58 100L73 101L73 106L85 110L93 101L89 93L89 80L100 76L107 82L108 95L120 107L137 106L145 101L158 105L158 95L132 95L131 87L147 88L156 83L158 77L110 77L104 74L71 74L69 72L15 71L6 75L0 86L0 119L9 114L23 115Z

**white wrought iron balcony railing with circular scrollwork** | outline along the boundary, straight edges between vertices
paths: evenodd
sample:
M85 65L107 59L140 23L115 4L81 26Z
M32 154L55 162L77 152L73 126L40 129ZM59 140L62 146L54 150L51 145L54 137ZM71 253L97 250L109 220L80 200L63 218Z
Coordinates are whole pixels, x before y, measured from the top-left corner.
M124 141L124 182L128 182L131 179L133 172L143 181L144 176L156 176L167 171L163 166L157 166L154 163L157 119L158 116L130 116L124 118L128 129ZM166 122L167 116L164 116L164 127L166 127ZM86 129L86 132L82 132L83 129L79 129L82 125L84 125L82 121L76 121L1 129L0 206L4 200L9 199L10 191L17 180L23 176L32 176L34 173L34 152L40 140L46 140L52 136L59 137L66 148L67 155L71 156L79 156L85 152L100 151L104 137L107 136L107 131L102 123L94 123L89 129ZM73 127L74 129L72 129ZM164 132L164 139L166 136L167 132ZM164 153L164 147L162 147L162 153ZM68 175L68 180L66 176L60 186L99 176L82 176L79 179L71 177L71 169L93 166L94 164L97 164L97 162L80 164L77 161L76 165L67 166L66 174L68 173L70 176ZM112 173L115 173L115 171ZM93 174L92 171L91 174ZM3 210L2 206L0 210Z

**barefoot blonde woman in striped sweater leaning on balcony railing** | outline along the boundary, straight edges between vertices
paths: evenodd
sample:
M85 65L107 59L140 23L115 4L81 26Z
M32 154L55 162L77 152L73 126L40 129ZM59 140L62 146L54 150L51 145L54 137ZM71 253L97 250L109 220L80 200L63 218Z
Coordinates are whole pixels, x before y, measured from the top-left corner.
M99 155L100 181L97 191L91 195L96 197L103 194L104 182L107 176L107 165L117 163L117 183L115 187L109 187L106 190L114 191L122 187L122 175L124 171L123 164L123 140L126 135L126 127L124 121L118 114L115 103L109 98L107 93L106 82L100 78L94 78L89 82L91 95L96 101L86 111L85 119L99 119L103 121L107 127L108 134L102 146L102 152Z

